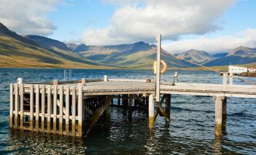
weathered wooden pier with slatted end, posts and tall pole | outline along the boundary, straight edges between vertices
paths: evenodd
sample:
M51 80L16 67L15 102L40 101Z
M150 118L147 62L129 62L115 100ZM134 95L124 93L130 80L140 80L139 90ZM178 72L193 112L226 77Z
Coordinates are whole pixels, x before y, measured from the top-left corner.
M223 84L160 81L161 36L158 36L157 72L153 79L85 79L10 85L10 128L21 131L53 133L82 137L88 135L98 120L108 123L109 106L128 112L132 120L135 108L146 111L149 131L159 115L170 121L171 95L214 96L215 135L226 128L227 97L256 98L256 85L233 84L233 75L223 74ZM25 79L26 80L26 79ZM114 104L115 102L115 104ZM163 106L165 105L165 108Z

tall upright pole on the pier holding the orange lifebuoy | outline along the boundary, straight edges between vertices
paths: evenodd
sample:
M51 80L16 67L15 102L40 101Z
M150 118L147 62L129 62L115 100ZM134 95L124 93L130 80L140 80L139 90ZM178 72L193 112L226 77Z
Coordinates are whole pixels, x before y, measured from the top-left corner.
M157 53L156 53L156 102L160 102L160 61L161 61L161 35L157 35Z

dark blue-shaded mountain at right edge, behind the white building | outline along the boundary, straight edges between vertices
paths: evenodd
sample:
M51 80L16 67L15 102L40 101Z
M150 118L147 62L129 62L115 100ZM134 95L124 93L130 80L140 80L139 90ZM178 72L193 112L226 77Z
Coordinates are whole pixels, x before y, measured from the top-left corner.
M216 65L240 65L256 62L256 48L249 47L237 47L231 50L227 56L212 59L209 62L205 62L204 65L216 66Z

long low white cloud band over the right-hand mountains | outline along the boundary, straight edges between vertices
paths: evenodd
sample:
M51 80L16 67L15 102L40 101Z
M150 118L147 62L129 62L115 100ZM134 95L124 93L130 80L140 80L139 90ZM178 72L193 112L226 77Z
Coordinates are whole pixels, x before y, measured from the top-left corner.
M228 52L236 47L256 47L256 29L246 29L235 35L224 35L217 38L195 38L173 41L163 44L162 47L171 53L180 53L187 50L205 50L210 53Z

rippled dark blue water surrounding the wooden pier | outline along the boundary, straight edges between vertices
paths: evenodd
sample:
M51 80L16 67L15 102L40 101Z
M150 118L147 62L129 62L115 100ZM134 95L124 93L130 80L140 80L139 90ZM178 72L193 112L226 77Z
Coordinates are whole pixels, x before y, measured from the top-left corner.
M221 84L211 71L177 71L179 82ZM81 78L154 78L152 71L72 70ZM174 81L174 71L162 76ZM133 120L121 108L111 108L109 126L97 127L88 138L37 135L9 130L9 84L17 78L29 81L63 79L62 69L0 68L0 153L21 154L256 154L256 99L227 99L227 131L214 138L214 99L211 96L171 95L171 123L156 118L155 134L147 132L147 116L134 111ZM256 82L256 79L249 79ZM235 84L242 84L235 80Z

